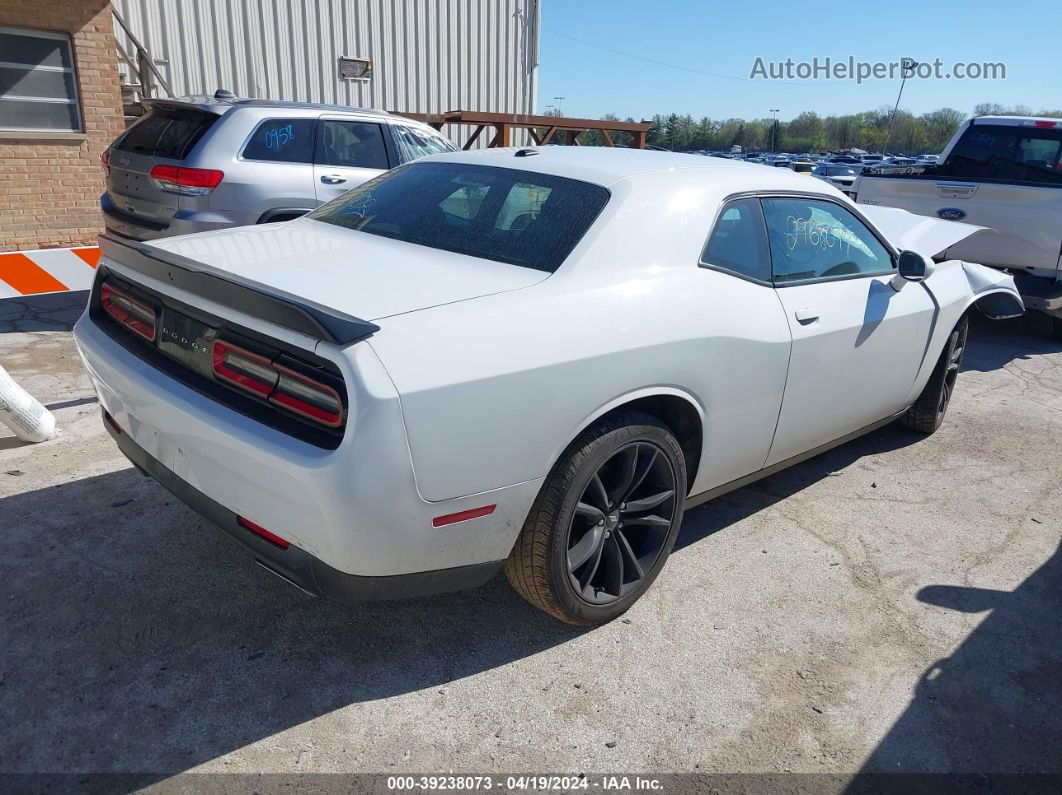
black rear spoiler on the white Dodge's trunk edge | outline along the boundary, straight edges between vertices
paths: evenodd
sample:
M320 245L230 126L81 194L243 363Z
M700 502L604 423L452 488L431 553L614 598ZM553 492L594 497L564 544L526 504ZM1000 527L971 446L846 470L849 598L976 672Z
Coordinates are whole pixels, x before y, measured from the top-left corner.
M208 298L229 309L261 317L277 326L303 334L348 345L380 330L375 323L342 312L324 309L293 298L281 298L263 290L229 281L203 265L178 254L154 248L148 243L100 236L104 257L159 281L166 281L194 295Z

